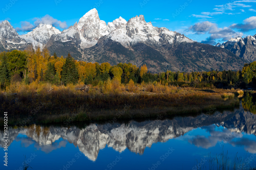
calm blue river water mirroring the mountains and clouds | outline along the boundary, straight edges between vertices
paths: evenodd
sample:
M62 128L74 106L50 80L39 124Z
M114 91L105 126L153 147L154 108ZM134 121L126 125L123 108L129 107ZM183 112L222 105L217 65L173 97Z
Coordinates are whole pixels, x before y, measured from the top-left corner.
M209 169L208 161L220 160L223 152L230 164L239 164L234 161L237 154L251 165L256 161L255 135L255 101L250 96L240 108L197 116L13 127L8 130L8 167L1 156L1 169L23 169L24 155L36 170ZM3 147L2 132L0 139Z

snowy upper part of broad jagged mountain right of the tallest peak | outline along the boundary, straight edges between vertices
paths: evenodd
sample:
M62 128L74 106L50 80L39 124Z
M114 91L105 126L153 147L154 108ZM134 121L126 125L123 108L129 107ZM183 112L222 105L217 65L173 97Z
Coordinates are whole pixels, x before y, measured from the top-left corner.
M131 18L125 25L111 32L107 38L121 43L124 47L133 46L139 42L157 45L173 44L175 41L194 42L177 32L153 27L151 22L145 21L143 15Z

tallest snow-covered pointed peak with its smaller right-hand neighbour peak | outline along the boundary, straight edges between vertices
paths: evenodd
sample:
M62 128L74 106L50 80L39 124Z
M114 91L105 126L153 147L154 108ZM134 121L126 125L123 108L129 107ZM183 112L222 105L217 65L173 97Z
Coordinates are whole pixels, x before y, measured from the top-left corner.
M61 34L54 35L52 41L62 43L76 41L74 43L78 48L90 48L96 45L102 36L108 35L126 23L127 21L120 17L107 25L105 21L100 20L98 11L92 9L80 18L78 23L63 30Z

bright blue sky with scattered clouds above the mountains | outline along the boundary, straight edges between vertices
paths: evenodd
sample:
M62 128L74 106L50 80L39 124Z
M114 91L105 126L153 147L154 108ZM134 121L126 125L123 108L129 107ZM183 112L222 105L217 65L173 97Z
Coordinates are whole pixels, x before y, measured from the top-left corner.
M256 34L256 1L79 1L2 0L1 18L19 34L42 22L51 22L61 31L73 25L90 9L98 10L106 23L120 16L127 21L144 15L155 27L166 27L190 39L215 45L237 36Z

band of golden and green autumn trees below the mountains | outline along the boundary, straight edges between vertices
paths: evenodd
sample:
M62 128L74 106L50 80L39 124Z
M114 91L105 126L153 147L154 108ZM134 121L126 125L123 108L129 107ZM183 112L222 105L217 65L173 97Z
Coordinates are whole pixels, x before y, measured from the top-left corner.
M91 63L77 61L70 54L66 58L50 55L44 46L36 50L30 46L24 51L13 50L0 53L0 84L5 89L10 83L24 81L49 82L56 85L67 85L84 82L97 86L108 79L117 79L127 84L160 82L162 85L245 88L256 84L256 61L245 64L242 70L212 70L208 72L172 72L158 74L148 72L147 66L140 68L131 63L119 63L111 66L109 63Z

